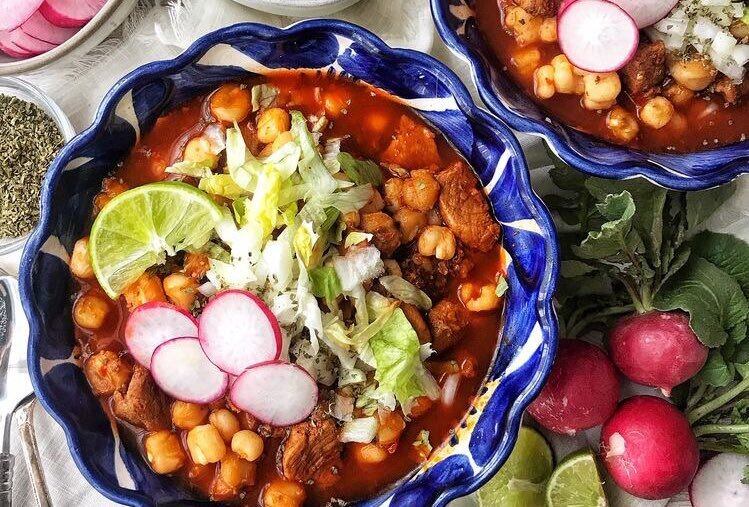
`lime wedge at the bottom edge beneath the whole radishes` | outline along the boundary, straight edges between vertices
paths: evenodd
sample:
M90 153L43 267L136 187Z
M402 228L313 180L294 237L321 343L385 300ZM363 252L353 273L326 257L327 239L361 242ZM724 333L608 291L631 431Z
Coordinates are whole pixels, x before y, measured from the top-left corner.
M566 457L546 485L548 507L606 507L596 458L589 450Z

